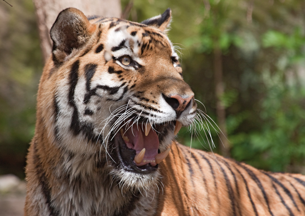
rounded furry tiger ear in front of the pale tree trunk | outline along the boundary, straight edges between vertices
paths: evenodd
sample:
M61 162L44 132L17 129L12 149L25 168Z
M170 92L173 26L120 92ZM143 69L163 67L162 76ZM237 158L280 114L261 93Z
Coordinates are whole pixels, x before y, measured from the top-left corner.
M96 26L89 23L87 17L78 9L67 8L61 11L50 30L53 41L53 60L64 62L81 48Z

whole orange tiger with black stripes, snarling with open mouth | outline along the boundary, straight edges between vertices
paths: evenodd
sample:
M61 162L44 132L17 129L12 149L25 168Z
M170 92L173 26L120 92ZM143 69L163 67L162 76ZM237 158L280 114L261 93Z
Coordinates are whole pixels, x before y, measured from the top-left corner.
M305 215L305 176L176 141L200 109L170 20L170 9L141 23L59 13L38 88L25 216Z

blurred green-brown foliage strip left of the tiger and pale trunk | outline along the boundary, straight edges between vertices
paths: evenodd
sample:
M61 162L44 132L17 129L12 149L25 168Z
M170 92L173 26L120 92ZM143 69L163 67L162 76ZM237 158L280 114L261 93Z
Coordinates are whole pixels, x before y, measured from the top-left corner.
M0 3L0 174L23 177L42 58L31 0Z

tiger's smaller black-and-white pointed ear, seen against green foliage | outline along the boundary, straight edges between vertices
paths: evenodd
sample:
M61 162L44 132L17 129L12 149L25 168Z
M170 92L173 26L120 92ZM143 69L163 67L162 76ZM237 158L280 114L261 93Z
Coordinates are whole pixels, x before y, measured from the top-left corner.
M171 10L170 8L167 8L167 10L159 16L154 16L152 18L149 18L147 20L142 21L142 24L153 26L161 31L167 30L167 28L170 26L170 19L171 19Z

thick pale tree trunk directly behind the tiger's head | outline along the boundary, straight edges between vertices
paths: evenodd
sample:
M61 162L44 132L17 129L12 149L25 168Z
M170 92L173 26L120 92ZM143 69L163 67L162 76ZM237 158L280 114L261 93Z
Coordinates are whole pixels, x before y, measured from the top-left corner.
M121 16L120 0L33 0L40 36L40 47L43 59L46 61L52 50L50 29L57 15L63 9L74 7L81 10L86 16L101 15L109 17Z

